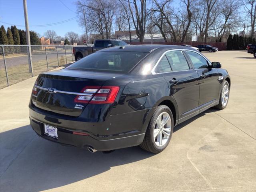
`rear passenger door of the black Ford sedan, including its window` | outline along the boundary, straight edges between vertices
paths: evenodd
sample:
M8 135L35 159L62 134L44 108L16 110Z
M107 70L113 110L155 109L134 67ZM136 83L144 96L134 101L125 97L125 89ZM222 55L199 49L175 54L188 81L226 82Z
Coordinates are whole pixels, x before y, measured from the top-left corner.
M199 112L199 76L190 69L182 50L166 52L155 71L170 85L170 96L178 105L179 122L196 115Z

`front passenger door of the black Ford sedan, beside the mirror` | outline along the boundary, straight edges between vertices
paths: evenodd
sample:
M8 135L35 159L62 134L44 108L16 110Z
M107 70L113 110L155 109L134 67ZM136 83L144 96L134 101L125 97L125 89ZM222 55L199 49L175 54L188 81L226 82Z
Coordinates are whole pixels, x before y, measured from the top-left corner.
M201 54L186 50L186 54L193 65L194 70L200 76L199 80L199 107L200 109L214 105L219 98L219 74L218 70L211 68L211 63Z

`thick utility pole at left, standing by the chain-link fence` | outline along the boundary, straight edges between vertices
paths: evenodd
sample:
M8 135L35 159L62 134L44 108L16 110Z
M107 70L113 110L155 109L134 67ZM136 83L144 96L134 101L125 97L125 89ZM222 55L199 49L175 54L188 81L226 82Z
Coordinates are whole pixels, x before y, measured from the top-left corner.
M25 25L26 25L26 41L27 41L27 48L28 48L29 72L31 72L33 77L32 54L31 54L30 34L29 34L29 26L28 26L27 0L23 0L23 8L24 8L24 18L25 18Z

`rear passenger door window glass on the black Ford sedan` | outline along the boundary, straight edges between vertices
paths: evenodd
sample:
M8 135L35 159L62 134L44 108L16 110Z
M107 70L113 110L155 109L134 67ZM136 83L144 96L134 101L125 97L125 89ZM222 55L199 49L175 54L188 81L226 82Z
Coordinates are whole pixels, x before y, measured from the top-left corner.
M182 71L189 69L188 62L182 51L170 51L166 53L166 57L170 62L172 71Z

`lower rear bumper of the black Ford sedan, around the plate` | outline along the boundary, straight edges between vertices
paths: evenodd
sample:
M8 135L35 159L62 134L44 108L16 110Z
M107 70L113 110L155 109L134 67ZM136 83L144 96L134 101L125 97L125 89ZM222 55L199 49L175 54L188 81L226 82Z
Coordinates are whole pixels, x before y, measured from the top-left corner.
M124 136L121 138L96 140L91 136L72 134L71 131L62 128L58 128L58 139L55 139L44 134L43 123L37 122L30 118L30 125L32 126L33 130L38 134L38 136L41 136L42 138L45 138L47 140L68 146L75 146L78 148L86 148L87 146L91 146L98 151L108 151L119 148L137 146L142 143L144 139L144 133L142 133L132 136Z

